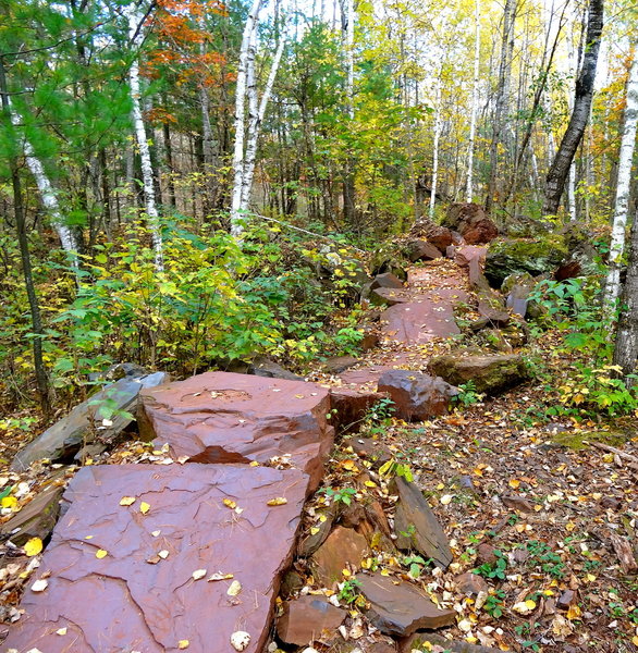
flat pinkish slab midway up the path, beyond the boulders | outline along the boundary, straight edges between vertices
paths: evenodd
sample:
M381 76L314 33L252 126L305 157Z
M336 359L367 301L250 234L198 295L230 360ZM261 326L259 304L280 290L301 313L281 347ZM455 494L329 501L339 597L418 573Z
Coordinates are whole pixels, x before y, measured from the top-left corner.
M461 333L454 321L454 306L467 295L459 288L439 288L417 295L412 301L391 306L381 316L385 340L398 343L427 343L435 337Z

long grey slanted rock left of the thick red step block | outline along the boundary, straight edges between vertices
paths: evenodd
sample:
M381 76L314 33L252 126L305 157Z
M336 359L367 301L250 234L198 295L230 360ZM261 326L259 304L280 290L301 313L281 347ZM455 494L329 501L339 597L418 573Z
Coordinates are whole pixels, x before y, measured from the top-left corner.
M164 372L125 375L107 385L27 444L16 454L11 469L23 471L35 460L44 458L52 461L73 458L82 446L94 440L112 442L133 421L131 412L135 412L139 392L165 383L168 378ZM101 414L100 410L106 408L109 412ZM105 416L109 416L110 424L105 424Z

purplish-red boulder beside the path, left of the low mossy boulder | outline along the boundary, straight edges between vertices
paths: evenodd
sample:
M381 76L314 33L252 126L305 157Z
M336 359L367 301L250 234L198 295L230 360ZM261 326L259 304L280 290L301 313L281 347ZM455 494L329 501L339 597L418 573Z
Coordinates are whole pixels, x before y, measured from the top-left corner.
M383 372L378 390L390 395L396 417L415 421L445 415L450 401L458 394L458 389L445 383L443 379L409 370Z

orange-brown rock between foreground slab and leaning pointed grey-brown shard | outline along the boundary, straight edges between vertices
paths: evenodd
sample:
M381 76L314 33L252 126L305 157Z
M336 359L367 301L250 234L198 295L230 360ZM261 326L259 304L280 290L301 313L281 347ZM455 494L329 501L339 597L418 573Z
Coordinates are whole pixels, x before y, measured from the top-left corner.
M335 528L312 556L315 578L320 584L331 587L342 580L342 570L347 565L358 568L367 550L368 543L364 535L352 528Z

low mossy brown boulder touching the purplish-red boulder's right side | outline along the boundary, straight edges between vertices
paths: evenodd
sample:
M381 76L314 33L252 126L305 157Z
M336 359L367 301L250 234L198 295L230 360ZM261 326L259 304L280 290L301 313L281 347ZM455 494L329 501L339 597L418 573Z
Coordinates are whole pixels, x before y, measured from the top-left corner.
M529 379L523 357L518 354L462 356L446 354L430 360L432 373L454 385L471 381L478 393L495 395Z

